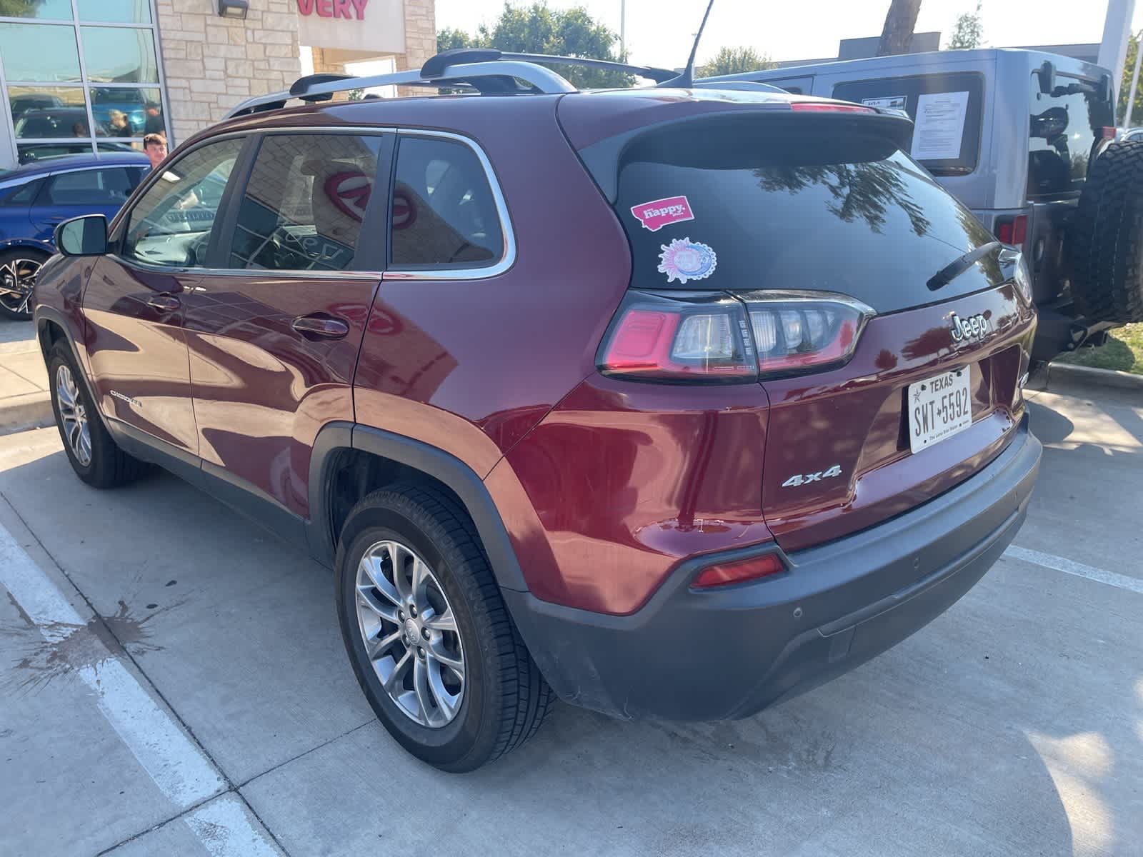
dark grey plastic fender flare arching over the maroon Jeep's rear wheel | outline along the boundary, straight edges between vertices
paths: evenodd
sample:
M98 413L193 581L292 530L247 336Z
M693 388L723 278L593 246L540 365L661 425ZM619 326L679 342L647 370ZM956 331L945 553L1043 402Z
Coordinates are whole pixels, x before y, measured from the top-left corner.
M459 498L477 528L485 553L501 588L527 592L507 528L483 480L469 465L442 449L403 434L349 422L323 426L310 457L310 521L306 537L310 552L322 564L333 567L337 539L333 531L329 476L330 465L341 449L357 449L389 458L425 473L447 486Z

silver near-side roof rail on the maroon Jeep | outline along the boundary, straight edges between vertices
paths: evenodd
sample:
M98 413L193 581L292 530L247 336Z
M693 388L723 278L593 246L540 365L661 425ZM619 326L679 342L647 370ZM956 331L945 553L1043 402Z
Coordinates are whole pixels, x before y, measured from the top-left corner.
M425 74L424 69L393 72L391 74L374 74L363 78L311 74L297 80L287 91L247 98L234 106L224 118L231 119L265 110L279 110L285 107L286 102L290 98L318 102L326 101L335 93L385 86L471 87L483 95L576 91L574 86L551 69L545 69L535 63L488 59L473 63L439 65L439 67L432 67L431 63L432 59L425 64L429 67L429 74ZM317 78L323 78L323 80L315 80ZM523 81L527 83L527 87L521 88L515 82L517 80Z

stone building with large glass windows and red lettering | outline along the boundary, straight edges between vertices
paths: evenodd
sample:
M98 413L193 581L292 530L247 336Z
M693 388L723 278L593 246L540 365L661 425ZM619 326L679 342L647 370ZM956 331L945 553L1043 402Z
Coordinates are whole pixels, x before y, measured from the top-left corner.
M0 168L177 145L311 72L419 67L434 0L0 0Z

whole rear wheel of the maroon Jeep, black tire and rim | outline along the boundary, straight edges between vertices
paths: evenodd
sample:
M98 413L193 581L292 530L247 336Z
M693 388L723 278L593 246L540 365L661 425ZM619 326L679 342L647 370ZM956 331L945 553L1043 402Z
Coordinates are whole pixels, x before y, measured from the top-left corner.
M418 576L422 594L414 592ZM399 484L361 499L342 530L336 591L361 690L409 753L441 770L470 771L539 728L552 690L509 616L472 523L450 498Z

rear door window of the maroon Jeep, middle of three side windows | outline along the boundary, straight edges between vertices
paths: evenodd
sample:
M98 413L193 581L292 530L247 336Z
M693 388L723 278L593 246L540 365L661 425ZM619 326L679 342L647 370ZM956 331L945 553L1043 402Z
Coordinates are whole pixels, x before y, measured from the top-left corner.
M230 267L351 267L379 151L377 136L267 136L242 195Z

